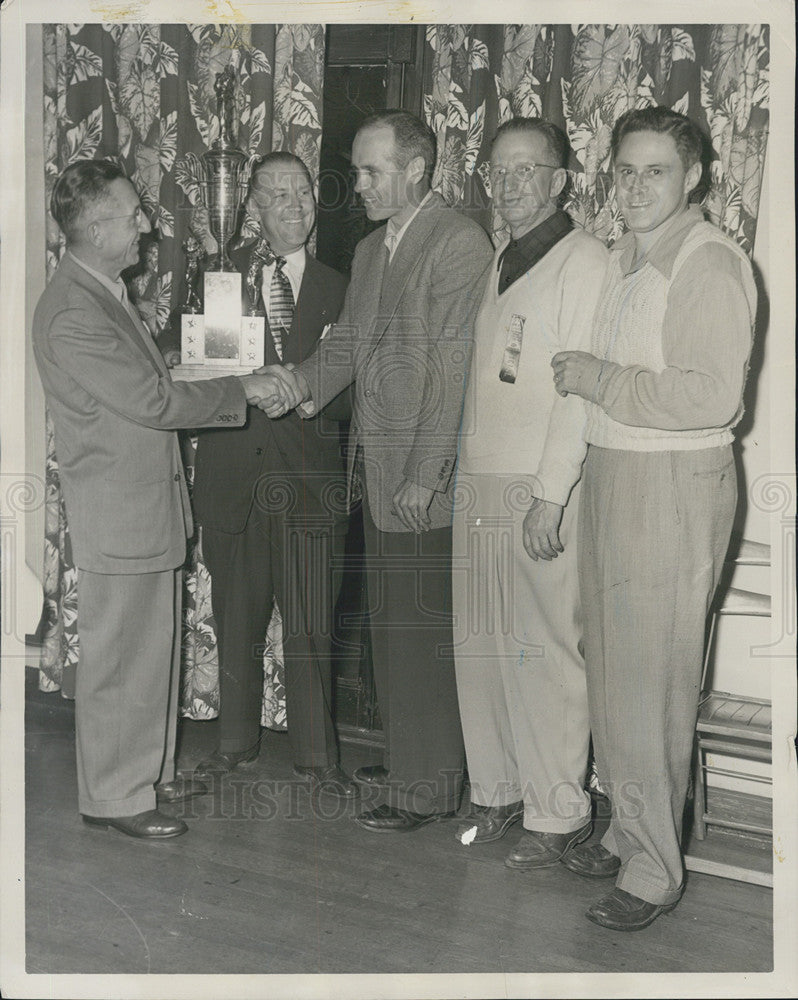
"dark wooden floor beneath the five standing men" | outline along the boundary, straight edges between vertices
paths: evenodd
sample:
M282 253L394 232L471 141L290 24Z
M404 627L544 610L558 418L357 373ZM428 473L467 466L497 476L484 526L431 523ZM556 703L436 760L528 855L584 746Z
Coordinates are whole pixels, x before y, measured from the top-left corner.
M287 736L268 733L247 780L174 811L190 825L146 843L85 826L74 712L28 670L27 971L30 973L761 972L772 895L689 875L679 906L637 934L595 927L607 883L562 866L503 865L517 839L466 848L452 821L369 834L360 807L312 799ZM182 726L180 765L215 723ZM373 757L371 758L374 759ZM347 768L369 751L344 748ZM723 836L722 834L720 835Z

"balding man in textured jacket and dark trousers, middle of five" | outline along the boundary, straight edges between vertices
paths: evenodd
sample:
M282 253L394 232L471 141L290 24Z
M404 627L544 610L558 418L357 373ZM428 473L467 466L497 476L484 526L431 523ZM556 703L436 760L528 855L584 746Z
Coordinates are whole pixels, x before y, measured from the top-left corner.
M413 115L367 119L355 190L381 227L355 252L338 323L287 377L310 416L354 382L350 497L362 489L384 799L357 822L413 830L453 812L463 740L452 658L453 481L474 316L492 251L430 189L435 135ZM289 366L290 367L290 366Z

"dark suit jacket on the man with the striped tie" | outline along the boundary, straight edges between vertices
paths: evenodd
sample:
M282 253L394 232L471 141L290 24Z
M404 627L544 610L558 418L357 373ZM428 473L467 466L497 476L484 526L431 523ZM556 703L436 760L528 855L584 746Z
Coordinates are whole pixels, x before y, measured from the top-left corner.
M246 274L252 244L231 255ZM346 291L346 278L305 254L305 271L288 337L283 338L283 362L299 364L313 352L325 326L335 321ZM249 299L242 282L242 307ZM260 300L263 306L263 299ZM265 310L264 310L265 311ZM264 361L280 358L266 320ZM240 430L205 431L197 445L194 510L204 526L238 533L244 530L253 502L308 530L345 531L347 523L343 461L338 420L348 419L345 399L336 400L315 419L303 421L296 412L270 420L249 409Z

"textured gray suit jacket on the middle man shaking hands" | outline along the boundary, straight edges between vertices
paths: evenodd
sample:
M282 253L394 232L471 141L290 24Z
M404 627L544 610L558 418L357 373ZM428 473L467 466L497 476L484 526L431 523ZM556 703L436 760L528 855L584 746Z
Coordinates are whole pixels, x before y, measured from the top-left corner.
M485 231L437 193L390 262L384 238L380 227L358 244L338 323L300 370L319 407L355 381L349 482L360 445L380 531L406 530L391 514L405 478L435 491L431 524L446 527L474 319L493 250Z

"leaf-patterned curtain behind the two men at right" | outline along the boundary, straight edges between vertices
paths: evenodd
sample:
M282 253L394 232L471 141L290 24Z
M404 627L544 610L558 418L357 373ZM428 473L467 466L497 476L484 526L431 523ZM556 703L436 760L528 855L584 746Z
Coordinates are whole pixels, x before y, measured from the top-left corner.
M438 136L434 184L486 225L490 139L513 115L568 135L565 205L612 242L623 222L610 135L630 108L664 104L711 137L704 210L753 250L768 129L767 25L430 25L424 110ZM494 227L495 228L495 227Z

